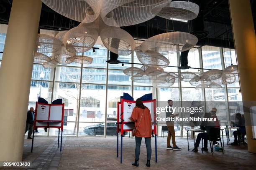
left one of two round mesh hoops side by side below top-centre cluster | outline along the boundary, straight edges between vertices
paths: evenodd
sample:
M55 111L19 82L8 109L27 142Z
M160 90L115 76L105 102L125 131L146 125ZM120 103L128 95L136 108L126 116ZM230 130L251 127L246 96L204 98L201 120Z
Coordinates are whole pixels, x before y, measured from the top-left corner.
M92 24L81 24L66 33L63 43L69 52L82 53L90 50L98 37L97 29Z

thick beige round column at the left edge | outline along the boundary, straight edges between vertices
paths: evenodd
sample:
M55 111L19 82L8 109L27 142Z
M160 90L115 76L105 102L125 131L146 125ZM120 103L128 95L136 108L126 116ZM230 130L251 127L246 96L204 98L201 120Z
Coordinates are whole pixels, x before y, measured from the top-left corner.
M13 0L0 68L0 161L21 161L41 0Z

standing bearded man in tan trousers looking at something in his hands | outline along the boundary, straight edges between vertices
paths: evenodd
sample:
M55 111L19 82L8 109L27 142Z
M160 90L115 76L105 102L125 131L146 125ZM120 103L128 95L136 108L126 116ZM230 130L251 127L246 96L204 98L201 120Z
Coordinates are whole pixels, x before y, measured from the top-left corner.
M170 110L169 110L169 108L168 108L168 110L166 110L166 118L178 116L179 114L173 114L173 109L172 109L173 101L172 100L168 100L168 105L170 106ZM181 150L181 148L179 148L176 145L176 141L175 141L174 121L172 121L172 120L166 121L166 125L168 127L167 148L166 149L167 150ZM171 146L171 138L172 138L173 147Z

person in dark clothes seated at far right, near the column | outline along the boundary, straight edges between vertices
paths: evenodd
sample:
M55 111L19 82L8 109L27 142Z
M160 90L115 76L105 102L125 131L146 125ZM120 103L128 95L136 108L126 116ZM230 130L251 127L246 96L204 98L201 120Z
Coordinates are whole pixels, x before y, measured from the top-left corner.
M233 132L234 142L231 145L238 145L238 135L246 134L245 121L241 113L236 113L236 120L236 122L231 121L231 124L239 129Z

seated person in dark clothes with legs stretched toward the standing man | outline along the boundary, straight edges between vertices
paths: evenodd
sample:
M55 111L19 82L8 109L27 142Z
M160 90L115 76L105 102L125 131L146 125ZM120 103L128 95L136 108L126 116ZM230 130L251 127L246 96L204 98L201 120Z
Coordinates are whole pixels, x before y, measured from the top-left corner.
M211 113L206 112L206 113L205 113L205 117L207 117L207 118L212 117L212 116L211 116ZM208 145L208 142L207 142L207 140L208 140L208 135L210 135L210 129L211 129L211 128L218 127L218 126L217 126L217 125L218 125L217 122L218 122L218 120L216 120L216 121L202 121L202 123L201 123L201 125L200 125L200 129L201 129L201 130L206 130L206 132L204 132L204 133L199 133L199 134L197 135L197 140L196 140L196 143L195 143L195 148L194 148L192 151L198 152L198 149L197 149L197 148L199 147L202 138L204 139L204 147L202 148L202 150L208 151L208 148L207 148L207 145Z

